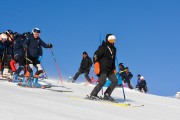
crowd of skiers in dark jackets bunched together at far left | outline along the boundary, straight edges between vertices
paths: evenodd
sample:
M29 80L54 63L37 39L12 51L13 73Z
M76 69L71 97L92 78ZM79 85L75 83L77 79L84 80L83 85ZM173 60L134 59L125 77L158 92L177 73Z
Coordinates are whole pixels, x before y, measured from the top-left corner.
M40 29L33 28L32 32L22 34L7 30L0 34L0 75L9 77L12 82L18 82L22 86L41 87L38 77L43 73L41 59L44 48L52 48L52 44L46 44L40 38ZM18 63L19 67L16 67ZM36 68L33 74L33 68ZM5 74L8 69L8 76ZM23 79L19 79L21 71L24 71ZM12 77L10 77L12 76Z

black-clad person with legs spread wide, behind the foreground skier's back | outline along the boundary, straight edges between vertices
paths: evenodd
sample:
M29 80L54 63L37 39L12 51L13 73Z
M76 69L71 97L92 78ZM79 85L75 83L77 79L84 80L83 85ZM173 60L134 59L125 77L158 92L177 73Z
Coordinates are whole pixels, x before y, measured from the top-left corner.
M79 68L79 71L74 75L73 81L75 82L76 79L79 77L80 74L84 73L85 78L87 79L88 82L91 82L91 79L89 77L89 71L92 66L92 60L88 56L87 52L83 52L83 59L81 61L81 66Z

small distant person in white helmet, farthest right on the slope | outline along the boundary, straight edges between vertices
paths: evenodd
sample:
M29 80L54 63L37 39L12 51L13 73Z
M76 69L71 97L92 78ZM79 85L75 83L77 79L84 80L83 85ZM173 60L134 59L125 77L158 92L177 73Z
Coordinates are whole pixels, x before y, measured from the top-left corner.
M147 83L146 80L144 79L144 76L141 76L139 83L136 85L137 90L140 92L146 93L148 91L147 89Z

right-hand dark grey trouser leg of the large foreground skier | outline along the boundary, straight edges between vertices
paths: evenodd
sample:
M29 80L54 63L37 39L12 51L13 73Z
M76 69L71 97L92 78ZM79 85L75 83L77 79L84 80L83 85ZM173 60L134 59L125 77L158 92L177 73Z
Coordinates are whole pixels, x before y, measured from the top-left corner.
M106 89L104 94L110 96L113 92L114 88L117 86L118 79L116 78L116 75L114 73L109 74L108 76L109 80L112 82L111 85Z

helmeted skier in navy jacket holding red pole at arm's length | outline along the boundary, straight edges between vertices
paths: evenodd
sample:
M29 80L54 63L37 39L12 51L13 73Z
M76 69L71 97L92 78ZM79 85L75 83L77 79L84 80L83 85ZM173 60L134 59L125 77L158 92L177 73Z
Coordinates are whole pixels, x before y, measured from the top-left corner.
M37 71L35 75L33 76L33 82L32 82L32 87L41 87L41 85L38 83L38 77L39 74L43 73L42 67L40 65L40 50L39 49L41 46L44 48L52 48L52 44L46 44L43 40L40 38L40 29L39 28L34 28L32 30L32 34L28 34L26 40L24 41L23 47L25 52L25 58L26 61L29 64L29 69L26 72L26 77L30 78L30 74L32 73L33 66L36 66ZM31 80L30 80L31 81Z

